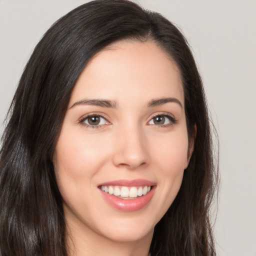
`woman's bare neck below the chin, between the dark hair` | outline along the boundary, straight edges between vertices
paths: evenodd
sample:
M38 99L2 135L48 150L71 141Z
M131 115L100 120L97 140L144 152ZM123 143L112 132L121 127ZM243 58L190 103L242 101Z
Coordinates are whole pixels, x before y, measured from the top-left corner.
M78 223L68 223L68 256L148 256L153 230L139 240L115 241Z

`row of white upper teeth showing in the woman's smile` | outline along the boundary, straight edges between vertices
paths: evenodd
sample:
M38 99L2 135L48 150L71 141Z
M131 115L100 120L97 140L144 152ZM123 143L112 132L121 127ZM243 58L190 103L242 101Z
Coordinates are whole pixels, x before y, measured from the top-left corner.
M101 186L100 189L106 193L113 194L116 196L120 196L123 198L134 198L137 196L147 194L151 187L150 186Z

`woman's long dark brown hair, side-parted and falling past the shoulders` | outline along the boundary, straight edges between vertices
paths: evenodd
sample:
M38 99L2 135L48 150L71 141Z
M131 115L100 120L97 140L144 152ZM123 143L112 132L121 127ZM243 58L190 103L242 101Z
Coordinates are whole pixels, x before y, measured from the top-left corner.
M51 159L77 77L96 52L121 39L153 40L176 62L188 136L194 139L180 190L155 226L151 255L215 255L209 207L217 164L202 82L186 39L159 13L128 0L96 0L70 11L46 31L13 97L0 150L2 256L67 255Z

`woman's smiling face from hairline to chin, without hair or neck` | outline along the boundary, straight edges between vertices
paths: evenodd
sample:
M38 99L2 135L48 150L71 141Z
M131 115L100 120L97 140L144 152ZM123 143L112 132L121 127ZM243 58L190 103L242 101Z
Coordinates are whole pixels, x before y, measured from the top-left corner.
M188 164L179 70L154 42L120 41L75 83L55 148L69 226L115 241L150 236Z

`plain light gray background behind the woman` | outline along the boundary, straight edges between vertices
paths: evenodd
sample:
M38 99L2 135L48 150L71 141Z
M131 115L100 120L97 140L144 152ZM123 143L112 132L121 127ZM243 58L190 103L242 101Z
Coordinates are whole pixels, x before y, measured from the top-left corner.
M0 0L0 134L33 47L57 18L84 2ZM178 24L203 77L220 139L218 255L255 256L256 1L139 2Z

